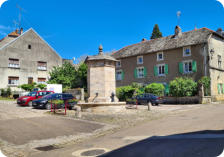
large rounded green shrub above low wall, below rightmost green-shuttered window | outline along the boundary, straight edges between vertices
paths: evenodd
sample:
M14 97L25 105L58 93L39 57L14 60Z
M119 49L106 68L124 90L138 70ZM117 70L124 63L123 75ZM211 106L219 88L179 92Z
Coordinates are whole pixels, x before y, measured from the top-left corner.
M197 83L192 78L177 77L170 82L170 95L176 97L195 96Z

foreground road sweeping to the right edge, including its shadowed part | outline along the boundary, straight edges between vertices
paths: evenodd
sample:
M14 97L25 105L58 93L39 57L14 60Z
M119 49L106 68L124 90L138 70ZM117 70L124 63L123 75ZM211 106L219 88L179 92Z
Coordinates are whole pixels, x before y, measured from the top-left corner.
M92 138L83 143L52 151L36 151L30 156L90 156L105 150L109 153L102 156L106 157L212 157L218 156L224 149L223 130L224 104L210 104Z

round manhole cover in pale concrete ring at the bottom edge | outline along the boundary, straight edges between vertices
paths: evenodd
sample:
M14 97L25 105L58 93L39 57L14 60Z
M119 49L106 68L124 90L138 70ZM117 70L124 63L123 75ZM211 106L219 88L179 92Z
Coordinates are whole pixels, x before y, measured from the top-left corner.
M89 148L89 149L77 150L73 152L72 155L79 156L79 157L93 157L93 156L102 155L108 151L109 150L105 148Z

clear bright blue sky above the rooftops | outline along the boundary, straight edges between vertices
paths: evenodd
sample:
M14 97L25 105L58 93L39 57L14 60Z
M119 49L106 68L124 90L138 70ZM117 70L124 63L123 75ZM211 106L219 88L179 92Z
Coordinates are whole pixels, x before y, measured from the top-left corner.
M15 27L33 27L63 58L92 55L149 39L154 24L163 36L174 33L176 12L183 31L224 29L224 8L216 0L8 0L0 8L0 38Z

